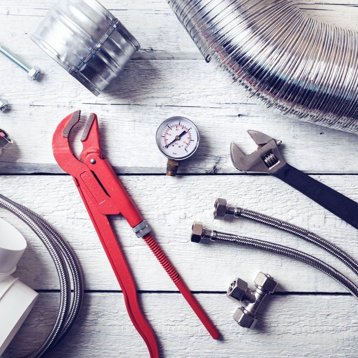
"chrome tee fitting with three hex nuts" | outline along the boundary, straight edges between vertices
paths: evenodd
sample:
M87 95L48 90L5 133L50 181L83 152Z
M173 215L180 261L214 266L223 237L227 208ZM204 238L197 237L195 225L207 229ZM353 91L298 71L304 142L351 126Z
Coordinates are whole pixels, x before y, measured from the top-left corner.
M227 297L236 302L247 301L234 313L234 320L244 328L253 328L257 323L256 313L267 295L275 292L277 282L269 274L259 272L255 279L255 289L250 290L247 282L237 277L227 291Z

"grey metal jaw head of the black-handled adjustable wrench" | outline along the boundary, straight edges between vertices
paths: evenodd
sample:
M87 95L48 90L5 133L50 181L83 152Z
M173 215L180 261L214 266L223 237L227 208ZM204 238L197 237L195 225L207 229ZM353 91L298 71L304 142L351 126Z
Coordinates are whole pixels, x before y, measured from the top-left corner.
M281 144L280 140L258 131L247 132L257 144L257 150L245 155L235 142L231 142L231 161L236 169L245 173L273 174L286 164L278 148Z

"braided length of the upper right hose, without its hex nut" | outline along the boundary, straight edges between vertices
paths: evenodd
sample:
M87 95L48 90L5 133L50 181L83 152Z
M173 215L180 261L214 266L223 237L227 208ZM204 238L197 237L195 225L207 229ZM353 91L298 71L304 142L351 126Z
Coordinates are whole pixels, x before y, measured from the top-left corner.
M321 236L316 235L309 230L290 224L286 221L243 208L235 209L235 217L241 217L244 219L265 224L267 226L275 227L282 231L289 232L295 236L303 238L308 242L314 243L315 245L323 248L323 250L329 252L331 255L337 257L358 276L358 262L355 261L352 256L348 255L347 252L334 245L332 242L324 239Z

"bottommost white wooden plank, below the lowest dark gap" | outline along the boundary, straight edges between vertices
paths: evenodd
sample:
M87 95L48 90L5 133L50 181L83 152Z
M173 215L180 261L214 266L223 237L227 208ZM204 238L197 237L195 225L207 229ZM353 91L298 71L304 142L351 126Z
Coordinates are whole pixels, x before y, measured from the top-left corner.
M225 294L195 295L222 333L214 341L179 294L140 294L160 345L160 357L357 357L356 301L349 296L271 296L256 329L232 319L238 304ZM37 348L50 329L58 294L40 294L4 358ZM148 352L132 326L119 293L86 294L81 317L51 357L138 357Z

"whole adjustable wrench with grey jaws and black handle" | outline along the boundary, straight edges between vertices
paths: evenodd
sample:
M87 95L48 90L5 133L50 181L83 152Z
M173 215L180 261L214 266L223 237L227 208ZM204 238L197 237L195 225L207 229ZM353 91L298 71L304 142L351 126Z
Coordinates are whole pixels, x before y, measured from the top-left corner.
M231 160L236 169L272 174L358 229L358 203L286 163L278 148L280 140L257 131L247 132L257 144L257 150L244 155L232 142Z

